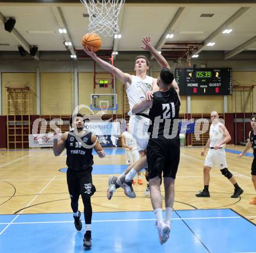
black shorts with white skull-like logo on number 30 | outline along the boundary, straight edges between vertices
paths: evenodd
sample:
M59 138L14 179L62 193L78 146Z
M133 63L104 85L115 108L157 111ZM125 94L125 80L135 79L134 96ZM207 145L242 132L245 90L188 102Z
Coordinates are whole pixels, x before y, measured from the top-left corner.
M71 198L77 198L80 194L82 198L91 197L96 191L91 173L70 168L67 169L67 187Z

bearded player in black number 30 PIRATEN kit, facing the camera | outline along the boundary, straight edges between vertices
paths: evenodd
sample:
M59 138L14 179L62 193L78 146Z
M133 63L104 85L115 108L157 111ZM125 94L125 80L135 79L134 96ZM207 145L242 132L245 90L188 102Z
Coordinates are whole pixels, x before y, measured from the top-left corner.
M93 171L93 148L99 157L105 157L104 150L98 142L97 136L91 132L84 131L84 119L80 113L70 117L70 126L74 131L65 132L61 140L54 139L54 154L59 156L66 148L67 150L67 186L71 198L71 208L74 216L74 226L77 230L82 229L80 220L81 213L78 211L78 201L81 194L84 204L84 220L86 221L86 233L84 234L84 247L91 247L91 196L96 191L93 185L91 171ZM57 136L59 129L54 135Z

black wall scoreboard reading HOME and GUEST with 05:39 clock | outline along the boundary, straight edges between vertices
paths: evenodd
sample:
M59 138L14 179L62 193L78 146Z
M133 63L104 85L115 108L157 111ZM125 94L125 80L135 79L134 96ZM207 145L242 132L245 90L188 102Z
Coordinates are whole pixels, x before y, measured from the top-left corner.
M176 68L180 95L232 95L231 68Z

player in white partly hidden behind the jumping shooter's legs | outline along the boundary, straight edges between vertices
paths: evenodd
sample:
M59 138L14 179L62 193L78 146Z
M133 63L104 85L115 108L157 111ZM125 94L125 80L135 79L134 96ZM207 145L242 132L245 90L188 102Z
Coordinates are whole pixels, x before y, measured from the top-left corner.
M136 139L129 131L129 123L126 124L126 131L122 133L122 147L125 148L126 164L133 164L140 159ZM143 185L141 172L138 172L138 184Z

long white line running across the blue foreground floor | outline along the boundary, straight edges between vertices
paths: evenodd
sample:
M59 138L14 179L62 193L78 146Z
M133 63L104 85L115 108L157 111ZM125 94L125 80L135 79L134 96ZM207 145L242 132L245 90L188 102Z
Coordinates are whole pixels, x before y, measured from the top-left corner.
M241 216L230 216L230 217L197 217L197 218L173 218L172 221L184 221L190 219L240 219ZM102 221L91 221L91 222L130 222L130 221L155 221L155 219L109 219ZM83 221L82 221L83 222ZM19 224L44 224L44 223L74 223L74 221L49 221L49 222L10 222L0 223L0 225L19 225Z

